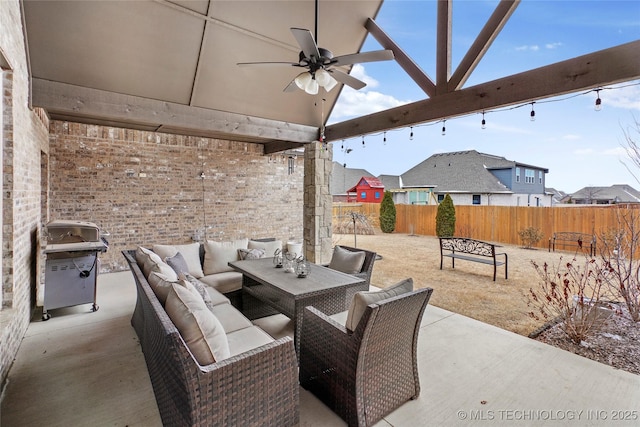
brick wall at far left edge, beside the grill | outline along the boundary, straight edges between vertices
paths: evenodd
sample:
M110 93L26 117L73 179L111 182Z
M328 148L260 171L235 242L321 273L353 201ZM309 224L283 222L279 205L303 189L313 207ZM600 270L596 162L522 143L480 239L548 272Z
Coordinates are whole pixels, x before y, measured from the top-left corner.
M29 109L29 79L20 3L0 1L2 92L2 304L0 393L31 319L38 276L40 158L47 121Z

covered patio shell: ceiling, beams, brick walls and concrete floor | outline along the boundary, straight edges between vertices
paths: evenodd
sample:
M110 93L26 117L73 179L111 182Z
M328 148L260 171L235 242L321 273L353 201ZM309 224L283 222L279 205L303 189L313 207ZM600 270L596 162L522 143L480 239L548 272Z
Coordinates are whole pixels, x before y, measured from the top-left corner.
M214 0L0 2L0 422L160 423L130 325L135 288L121 271L121 250L191 242L201 230L217 240L295 235L307 258L324 263L332 142L640 78L636 40L465 87L519 3L498 3L452 71L452 1L439 1L431 79L376 24L382 0L321 1L323 45L358 52L370 34L425 92L421 101L327 126L339 90L315 100L283 94L299 69L283 84L277 70L237 66L295 60L290 27L314 27L313 1L258 2L259 13L247 13L247 2ZM101 308L64 309L41 322L43 229L60 218L92 220L112 234ZM275 337L290 333L283 318L266 323ZM419 399L380 425L608 425L638 415L637 376L435 307L422 324L419 358ZM343 425L300 395L303 425Z

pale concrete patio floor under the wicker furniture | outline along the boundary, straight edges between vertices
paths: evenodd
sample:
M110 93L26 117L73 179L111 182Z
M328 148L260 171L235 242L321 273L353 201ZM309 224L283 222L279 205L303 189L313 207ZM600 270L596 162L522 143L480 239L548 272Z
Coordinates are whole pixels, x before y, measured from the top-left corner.
M98 305L34 316L9 372L2 426L161 425L129 321L128 271L100 275ZM290 334L284 316L259 321ZM640 376L439 309L419 338L421 394L378 426L640 425ZM344 426L301 388L302 426Z

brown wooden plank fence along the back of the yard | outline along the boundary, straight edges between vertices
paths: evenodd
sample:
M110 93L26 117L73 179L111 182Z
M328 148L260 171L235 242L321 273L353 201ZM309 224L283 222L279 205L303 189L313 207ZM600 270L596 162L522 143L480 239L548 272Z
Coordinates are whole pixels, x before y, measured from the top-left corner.
M396 205L396 232L436 235L436 205ZM456 206L456 235L489 242L520 245L518 232L534 227L543 233L537 247L547 248L554 232L574 231L595 234L620 229L621 216L640 206L619 205L562 205L558 207L523 206ZM344 222L350 212L358 212L369 218L379 228L379 203L334 203L334 224Z

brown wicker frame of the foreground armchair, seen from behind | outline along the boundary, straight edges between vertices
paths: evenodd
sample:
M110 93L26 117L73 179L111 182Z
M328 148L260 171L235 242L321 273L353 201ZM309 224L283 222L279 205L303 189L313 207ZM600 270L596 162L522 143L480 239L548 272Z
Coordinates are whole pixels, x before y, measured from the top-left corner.
M433 289L367 306L355 331L306 307L300 384L350 426L370 426L420 394L417 345Z

